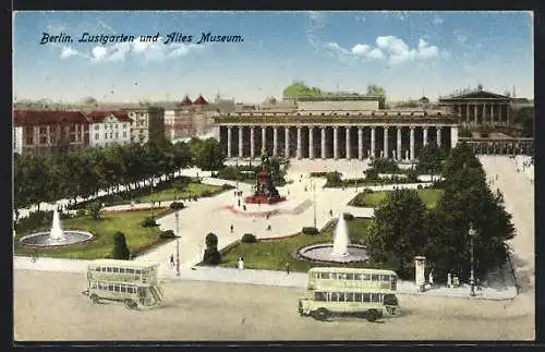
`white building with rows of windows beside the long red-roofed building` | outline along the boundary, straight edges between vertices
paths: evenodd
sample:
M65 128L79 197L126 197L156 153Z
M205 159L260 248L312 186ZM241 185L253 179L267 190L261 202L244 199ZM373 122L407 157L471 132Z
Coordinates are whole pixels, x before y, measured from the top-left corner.
M132 120L124 111L94 111L90 120L90 146L108 146L131 143Z

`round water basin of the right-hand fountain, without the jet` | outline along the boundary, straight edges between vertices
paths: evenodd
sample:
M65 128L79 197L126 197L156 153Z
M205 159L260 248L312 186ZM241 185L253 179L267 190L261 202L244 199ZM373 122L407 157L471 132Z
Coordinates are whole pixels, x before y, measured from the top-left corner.
M368 259L364 245L348 244L343 254L334 253L332 243L307 245L298 251L298 255L306 260L320 263L361 263Z

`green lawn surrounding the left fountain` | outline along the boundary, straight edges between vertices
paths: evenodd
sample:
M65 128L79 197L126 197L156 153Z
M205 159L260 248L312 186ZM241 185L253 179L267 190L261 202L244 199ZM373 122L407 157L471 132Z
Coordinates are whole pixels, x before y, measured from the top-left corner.
M168 211L155 211L156 218L165 216ZM146 217L152 216L152 210L130 211L120 214L102 215L101 219L95 221L90 216L78 216L62 220L64 230L80 229L94 234L92 241L73 246L58 248L28 248L15 246L17 255L38 255L47 257L94 259L102 258L113 248L113 236L116 231L125 234L126 244L131 252L135 248L150 242L159 240L159 227L144 228L140 223ZM49 231L49 228L43 228L31 232ZM29 233L17 233L17 239Z

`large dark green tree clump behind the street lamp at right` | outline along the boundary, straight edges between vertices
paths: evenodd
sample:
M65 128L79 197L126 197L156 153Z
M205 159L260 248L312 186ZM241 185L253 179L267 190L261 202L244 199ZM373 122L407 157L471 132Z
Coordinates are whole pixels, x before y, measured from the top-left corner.
M443 177L444 195L434 209L426 209L414 190L389 193L370 229L366 244L373 260L409 278L414 272L414 256L424 255L440 281L448 272L469 278L471 223L476 231L476 274L483 276L506 260L506 241L514 235L511 216L501 194L488 189L483 167L468 145L451 149Z

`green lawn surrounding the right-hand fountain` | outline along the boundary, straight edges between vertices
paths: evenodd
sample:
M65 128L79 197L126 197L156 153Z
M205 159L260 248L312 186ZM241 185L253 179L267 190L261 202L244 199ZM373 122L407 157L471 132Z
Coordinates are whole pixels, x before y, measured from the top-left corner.
M355 218L348 221L349 235L352 243L361 243L367 235L367 227L371 219ZM220 266L235 267L240 256L244 258L244 267L249 269L262 270L284 270L286 264L290 264L290 270L307 271L310 268L319 266L311 262L295 259L292 254L305 245L332 241L335 228L318 235L298 234L294 238L275 241L259 241L257 243L240 243L229 250L222 256ZM323 264L322 264L323 265ZM368 264L360 264L358 267L365 267Z

